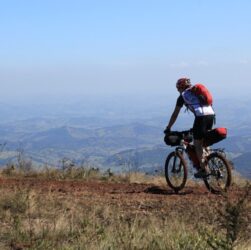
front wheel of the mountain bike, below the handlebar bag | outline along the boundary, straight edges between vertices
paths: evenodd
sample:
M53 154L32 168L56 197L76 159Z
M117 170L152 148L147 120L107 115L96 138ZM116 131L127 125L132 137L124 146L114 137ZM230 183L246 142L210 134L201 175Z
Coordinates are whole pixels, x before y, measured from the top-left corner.
M180 152L172 152L165 163L166 182L176 193L184 188L187 181L187 165Z

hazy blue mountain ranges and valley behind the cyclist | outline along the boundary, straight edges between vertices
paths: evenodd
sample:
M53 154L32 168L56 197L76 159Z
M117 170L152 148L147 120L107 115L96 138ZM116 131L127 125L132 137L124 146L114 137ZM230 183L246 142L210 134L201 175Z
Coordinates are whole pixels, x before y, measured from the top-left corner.
M251 178L251 112L248 103L237 104L222 102L222 107L216 107L217 126L228 128L228 138L214 147L225 148L236 170ZM0 148L0 163L15 161L17 151L22 149L35 164L55 165L68 158L115 171L161 171L172 150L163 142L168 116L163 107L140 115L133 111L117 115L110 108L99 110L100 116L60 114L22 119L20 115L15 119L20 108L0 107L0 114L8 115L0 122L0 144L6 144ZM246 115L241 116L243 113ZM192 122L192 114L182 113L175 129L188 129Z

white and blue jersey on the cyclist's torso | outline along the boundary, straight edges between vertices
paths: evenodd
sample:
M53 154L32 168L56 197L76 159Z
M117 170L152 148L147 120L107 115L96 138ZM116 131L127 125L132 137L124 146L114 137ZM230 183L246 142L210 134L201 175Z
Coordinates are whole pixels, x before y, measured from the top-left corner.
M189 110L191 110L195 116L214 115L214 110L211 105L202 105L198 96L192 93L189 89L182 92L182 97Z

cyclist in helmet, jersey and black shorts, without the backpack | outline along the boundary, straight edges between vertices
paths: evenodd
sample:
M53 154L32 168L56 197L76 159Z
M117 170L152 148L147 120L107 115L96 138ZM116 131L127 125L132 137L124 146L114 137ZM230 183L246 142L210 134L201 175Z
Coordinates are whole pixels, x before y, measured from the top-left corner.
M203 178L207 176L207 170L203 159L203 138L205 133L212 129L215 113L211 105L203 105L199 98L190 91L192 84L189 78L180 78L176 83L176 88L180 93L177 99L175 109L170 117L169 123L164 133L169 133L175 123L181 108L185 105L195 115L193 124L193 136L195 152L198 157L200 166L196 166L198 172L195 178Z

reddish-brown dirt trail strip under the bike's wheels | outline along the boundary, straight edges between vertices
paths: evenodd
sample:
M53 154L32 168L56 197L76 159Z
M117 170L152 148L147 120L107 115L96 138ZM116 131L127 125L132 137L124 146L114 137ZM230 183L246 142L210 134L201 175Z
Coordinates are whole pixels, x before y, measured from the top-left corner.
M222 199L221 195L213 195L207 191L204 185L194 185L185 187L179 194L175 194L167 186L156 186L154 184L137 183L113 183L105 181L76 181L76 180L48 180L48 179L8 179L0 178L1 189L34 189L41 193L61 193L64 195L80 196L91 194L105 197L105 199L149 199L149 200L198 200L200 197L217 200ZM230 197L238 197L242 192L239 188L232 188Z

